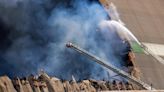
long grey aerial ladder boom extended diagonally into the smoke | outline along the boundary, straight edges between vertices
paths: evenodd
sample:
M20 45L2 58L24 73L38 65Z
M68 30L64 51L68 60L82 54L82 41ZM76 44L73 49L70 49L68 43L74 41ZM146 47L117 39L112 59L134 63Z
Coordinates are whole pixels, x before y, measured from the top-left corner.
M150 85L144 83L143 81L138 80L138 79L136 79L135 77L129 75L129 74L126 73L126 72L124 72L123 70L120 70L120 69L116 68L115 66L106 63L106 61L104 61L104 60L100 59L99 57L93 55L92 53L90 53L90 52L88 52L88 51L86 51L86 50L84 50L84 49L82 49L82 48L76 46L76 45L73 44L73 43L67 43L66 46L67 46L68 48L72 48L72 49L76 50L76 51L79 52L80 54L83 54L83 55L85 55L85 56L91 58L91 59L94 60L96 63L98 63L98 64L104 66L104 67L107 68L107 69L112 70L113 72L119 74L120 76L122 76L122 77L124 77L124 78L130 80L131 82L134 82L135 84L137 84L138 86L142 87L143 89L147 89L147 90L152 90L152 89L154 89L154 88L152 88Z

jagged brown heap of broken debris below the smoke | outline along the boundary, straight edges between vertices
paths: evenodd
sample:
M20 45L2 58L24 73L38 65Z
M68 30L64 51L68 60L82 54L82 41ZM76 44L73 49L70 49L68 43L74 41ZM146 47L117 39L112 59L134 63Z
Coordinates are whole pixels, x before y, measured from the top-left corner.
M7 76L0 77L0 92L96 92L109 90L141 90L130 82L113 80L97 81L93 79L76 81L60 80L49 77L46 73L38 77L33 75L28 78L9 79Z

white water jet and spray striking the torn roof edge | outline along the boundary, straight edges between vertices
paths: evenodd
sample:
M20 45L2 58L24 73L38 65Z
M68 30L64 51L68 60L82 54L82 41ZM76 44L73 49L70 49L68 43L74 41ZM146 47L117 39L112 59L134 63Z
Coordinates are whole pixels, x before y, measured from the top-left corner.
M99 2L104 6L105 10L107 11L108 15L111 17L111 20L114 20L116 22L109 23L110 25L117 25L116 27L119 27L121 30L116 30L117 33L121 38L126 38L131 45L132 42L136 42L142 49L144 49L144 52L148 55L151 55L153 58L155 58L160 63L164 64L164 59L162 59L160 56L154 54L150 49L148 49L144 44L142 44L131 32L129 29L125 27L125 23L123 23L119 17L119 13L117 12L117 7L110 2L109 0L99 0ZM118 22L118 23L117 23Z

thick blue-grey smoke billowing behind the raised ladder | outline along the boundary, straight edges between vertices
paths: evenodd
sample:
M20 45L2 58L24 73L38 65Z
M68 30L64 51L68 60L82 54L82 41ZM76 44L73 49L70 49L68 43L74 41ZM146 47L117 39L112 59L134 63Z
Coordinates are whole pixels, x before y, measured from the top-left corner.
M107 18L103 8L86 0L68 1L0 0L1 33L6 34L0 35L5 41L0 48L1 75L26 76L43 69L64 79L108 78L100 65L67 49L69 41L117 67L123 65L126 47L118 35L97 31Z

